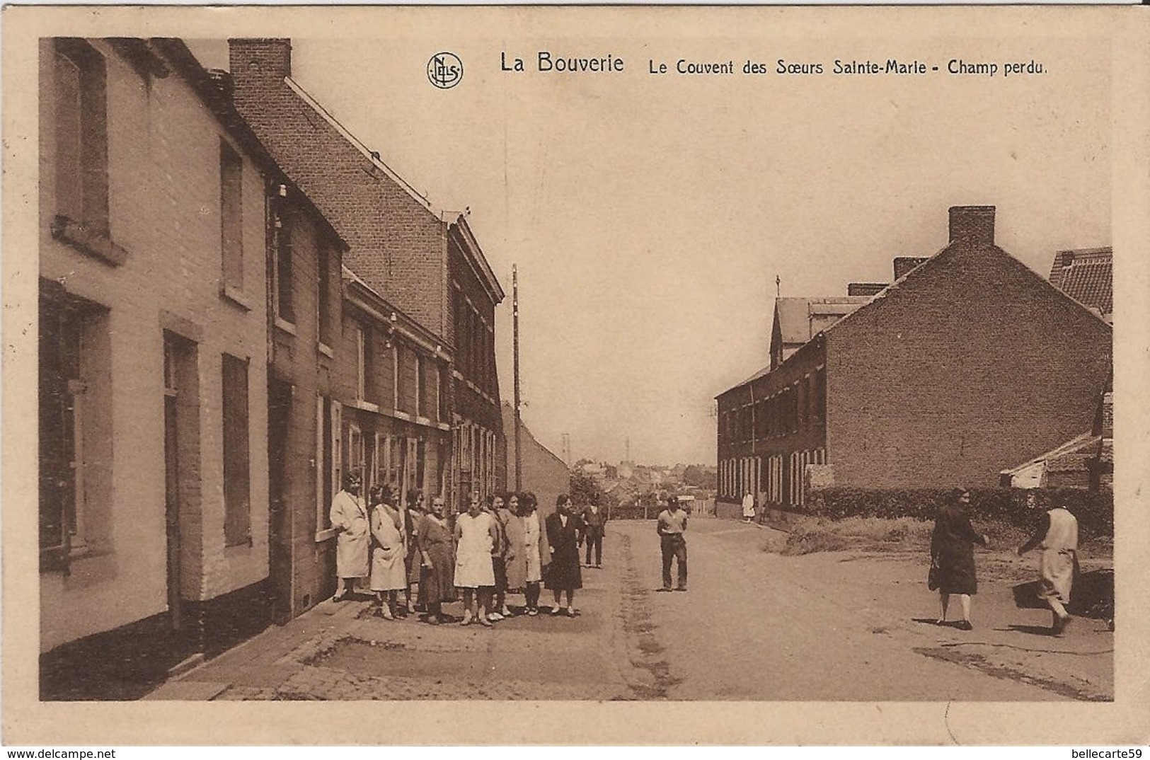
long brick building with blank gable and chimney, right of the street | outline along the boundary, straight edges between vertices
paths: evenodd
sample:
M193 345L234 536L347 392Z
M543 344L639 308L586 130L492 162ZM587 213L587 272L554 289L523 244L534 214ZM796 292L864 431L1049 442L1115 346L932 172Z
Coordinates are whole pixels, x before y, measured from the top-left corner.
M718 397L720 498L802 505L808 477L996 485L1090 430L1111 328L995 246L992 207L952 208L949 244L895 274Z

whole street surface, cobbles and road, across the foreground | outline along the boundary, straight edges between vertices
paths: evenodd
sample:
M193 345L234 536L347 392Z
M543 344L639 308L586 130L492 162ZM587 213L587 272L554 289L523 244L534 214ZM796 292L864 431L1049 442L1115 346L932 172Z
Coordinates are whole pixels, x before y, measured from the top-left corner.
M575 619L544 608L492 629L429 625L376 617L366 597L325 601L147 698L1113 698L1113 634L1101 621L1044 636L1044 613L1015 609L1009 585L986 583L974 631L938 628L920 556L780 556L762 551L767 530L693 521L690 591L656 593L653 523L612 523L604 568L583 569Z

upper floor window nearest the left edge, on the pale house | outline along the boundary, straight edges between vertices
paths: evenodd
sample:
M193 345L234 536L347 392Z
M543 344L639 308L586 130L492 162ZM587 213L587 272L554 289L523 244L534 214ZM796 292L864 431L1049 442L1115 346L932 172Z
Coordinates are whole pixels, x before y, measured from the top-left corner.
M79 39L54 51L56 214L108 232L108 93L103 56Z

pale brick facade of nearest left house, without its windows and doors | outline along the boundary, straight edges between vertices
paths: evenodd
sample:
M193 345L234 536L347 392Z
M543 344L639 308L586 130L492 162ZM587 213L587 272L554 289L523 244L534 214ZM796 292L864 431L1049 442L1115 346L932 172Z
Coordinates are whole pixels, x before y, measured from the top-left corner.
M261 581L267 545L267 310L263 179L244 159L244 300L220 294L220 140L223 130L176 75L144 82L102 41L107 62L108 207L129 255L103 263L49 232L55 189L40 183L40 275L108 307L109 553L77 559L71 575L40 576L41 647L109 630L167 608L163 330L197 341L199 504L183 505L184 596L210 599ZM54 177L53 51L40 47L40 170ZM229 138L224 138L229 139ZM237 148L238 149L238 148ZM238 151L240 155L244 152ZM167 315L167 316L166 316ZM221 354L248 360L252 546L224 547ZM148 401L151 399L151 402ZM186 474L185 474L186 475Z

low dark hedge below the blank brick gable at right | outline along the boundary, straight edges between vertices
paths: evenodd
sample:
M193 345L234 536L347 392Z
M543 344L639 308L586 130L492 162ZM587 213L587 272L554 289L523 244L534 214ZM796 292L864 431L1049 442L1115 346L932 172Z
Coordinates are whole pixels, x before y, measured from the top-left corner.
M934 520L951 489L844 489L811 491L800 510L821 517L915 517ZM1035 510L1027 506L1033 494L1037 507L1065 506L1075 517L1083 537L1114 535L1114 494L1081 489L971 489L971 517L995 520L1030 529Z

